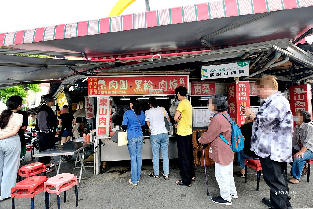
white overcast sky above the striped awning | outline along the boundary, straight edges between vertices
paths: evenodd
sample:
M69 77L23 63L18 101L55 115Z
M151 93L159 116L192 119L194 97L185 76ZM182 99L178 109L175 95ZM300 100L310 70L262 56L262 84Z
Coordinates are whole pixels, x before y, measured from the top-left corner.
M118 0L16 0L1 1L0 33L40 28L108 17ZM150 0L150 10L206 3L212 0ZM146 1L136 0L122 13L146 11Z

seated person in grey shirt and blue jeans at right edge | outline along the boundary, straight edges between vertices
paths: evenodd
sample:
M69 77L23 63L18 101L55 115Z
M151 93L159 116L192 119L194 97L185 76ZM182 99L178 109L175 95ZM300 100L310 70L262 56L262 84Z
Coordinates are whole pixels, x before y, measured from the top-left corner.
M294 121L297 123L292 135L292 153L295 154L291 175L293 176L289 183L299 184L301 175L304 175L308 170L305 165L305 160L313 158L313 125L309 112L300 110L295 112Z

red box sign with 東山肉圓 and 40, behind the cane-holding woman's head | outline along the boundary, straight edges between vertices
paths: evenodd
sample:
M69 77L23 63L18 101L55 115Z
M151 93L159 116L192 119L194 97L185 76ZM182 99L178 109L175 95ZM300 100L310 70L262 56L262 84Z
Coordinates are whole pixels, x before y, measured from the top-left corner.
M240 104L250 107L249 82L239 81L227 85L228 114L240 127L244 124L245 115L240 111Z

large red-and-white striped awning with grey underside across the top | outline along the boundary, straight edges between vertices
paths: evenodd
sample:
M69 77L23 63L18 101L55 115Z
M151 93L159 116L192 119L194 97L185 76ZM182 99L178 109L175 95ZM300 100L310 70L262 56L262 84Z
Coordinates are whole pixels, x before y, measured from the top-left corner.
M230 27L236 24L238 27ZM215 0L3 33L0 46L82 52L97 60L100 56L204 48L201 37L216 31L223 33L208 40L216 48L225 48L233 44L295 39L310 28L313 28L312 0Z

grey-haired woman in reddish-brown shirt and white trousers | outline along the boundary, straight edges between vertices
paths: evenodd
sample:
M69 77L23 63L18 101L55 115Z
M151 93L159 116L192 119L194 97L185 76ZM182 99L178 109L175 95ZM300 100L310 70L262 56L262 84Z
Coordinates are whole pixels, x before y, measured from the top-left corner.
M220 189L220 196L212 197L211 200L218 204L232 205L232 198L237 199L237 190L233 178L234 152L226 144L219 134L221 134L229 144L232 138L232 126L229 122L232 119L227 113L228 103L223 95L214 94L208 100L208 108L212 112L220 112L212 118L208 130L199 138L201 144L209 144L209 158L214 161L215 177ZM227 117L227 118L225 118Z

